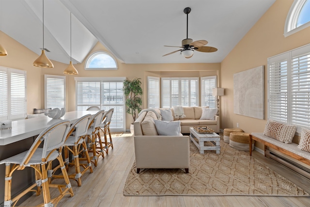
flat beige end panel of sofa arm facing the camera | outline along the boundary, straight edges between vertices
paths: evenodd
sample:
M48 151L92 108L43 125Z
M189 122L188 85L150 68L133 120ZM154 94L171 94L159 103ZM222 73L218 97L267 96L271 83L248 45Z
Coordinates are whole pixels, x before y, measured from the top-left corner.
M137 168L189 168L188 136L135 136Z

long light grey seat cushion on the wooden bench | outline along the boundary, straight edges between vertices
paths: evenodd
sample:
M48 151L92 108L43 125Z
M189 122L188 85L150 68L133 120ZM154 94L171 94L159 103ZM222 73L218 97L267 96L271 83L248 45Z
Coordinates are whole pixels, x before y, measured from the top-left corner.
M272 139L270 137L267 137L265 135L263 135L263 133L257 133L257 132L253 132L251 133L252 136L255 136L255 137L258 137L268 143L271 143L273 145L276 145L276 146L279 146L280 148L282 149L285 149L289 152L292 152L296 155L299 155L303 158L306 158L306 159L310 159L310 153L309 152L306 152L306 151L303 151L303 150L300 150L297 148L298 144L296 143L289 143L289 144L286 144L286 143L282 143L276 139Z

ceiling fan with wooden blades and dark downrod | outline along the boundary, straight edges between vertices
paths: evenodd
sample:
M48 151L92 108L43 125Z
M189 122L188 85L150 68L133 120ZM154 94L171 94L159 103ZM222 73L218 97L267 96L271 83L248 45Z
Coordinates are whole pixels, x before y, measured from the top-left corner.
M174 48L182 48L182 49L178 49L176 51L173 51L171 53L168 53L166 55L171 55L175 52L181 51L181 54L185 57L185 58L191 58L194 54L194 50L199 51L199 52L216 52L217 48L213 48L213 47L208 47L205 46L206 44L208 44L208 41L206 40L197 40L195 42L193 42L192 39L188 39L188 14L190 13L191 9L189 7L186 7L184 9L184 13L186 14L186 39L182 40L182 47L178 47L178 46L164 46L164 47L174 47ZM163 55L166 56L166 55Z

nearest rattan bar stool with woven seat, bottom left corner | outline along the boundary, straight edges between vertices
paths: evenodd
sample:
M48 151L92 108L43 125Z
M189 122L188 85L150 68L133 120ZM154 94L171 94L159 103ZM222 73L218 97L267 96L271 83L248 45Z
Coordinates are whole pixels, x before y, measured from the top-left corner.
M44 207L52 207L53 205L57 205L65 194L70 194L71 196L74 195L61 154L62 146L69 132L69 128L69 121L63 120L57 122L50 127L47 127L42 133L40 133L29 150L0 161L0 164L5 163L4 207L11 207L12 205L15 206L17 201L30 191L35 191L37 195L40 195L41 185L44 198L44 204L41 206ZM42 142L43 147L40 148L39 145ZM58 159L60 163L66 185L48 183L46 165L55 159ZM11 164L13 164L12 167ZM26 167L31 167L35 170L36 182L12 199L12 174L16 170L23 170ZM35 187L36 189L33 189ZM50 187L57 188L60 193L53 199L50 198Z

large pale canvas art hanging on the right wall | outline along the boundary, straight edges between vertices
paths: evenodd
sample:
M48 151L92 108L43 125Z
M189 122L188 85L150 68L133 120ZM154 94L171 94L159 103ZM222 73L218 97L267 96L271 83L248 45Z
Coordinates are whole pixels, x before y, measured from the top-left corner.
M264 119L264 66L233 74L233 112Z

